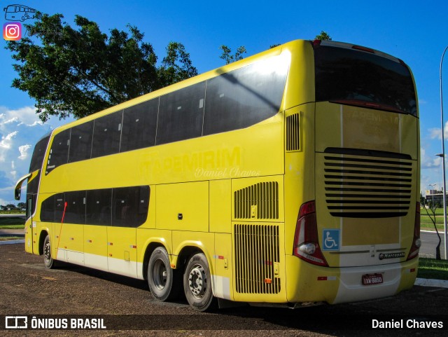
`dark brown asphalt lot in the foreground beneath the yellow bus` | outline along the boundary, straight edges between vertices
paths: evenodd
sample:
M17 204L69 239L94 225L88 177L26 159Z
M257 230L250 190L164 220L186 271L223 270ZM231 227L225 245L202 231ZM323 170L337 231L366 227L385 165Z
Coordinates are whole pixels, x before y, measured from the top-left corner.
M184 298L160 303L146 282L60 263L43 267L41 256L20 245L0 245L0 330L6 315L37 319L104 319L106 330L3 330L3 336L447 336L448 289L414 286L397 296L340 305L221 309L196 312ZM407 328L407 322L443 328ZM43 321L42 321L43 322ZM378 322L378 323L375 323ZM403 322L403 328L372 324ZM423 323L424 324L424 323Z

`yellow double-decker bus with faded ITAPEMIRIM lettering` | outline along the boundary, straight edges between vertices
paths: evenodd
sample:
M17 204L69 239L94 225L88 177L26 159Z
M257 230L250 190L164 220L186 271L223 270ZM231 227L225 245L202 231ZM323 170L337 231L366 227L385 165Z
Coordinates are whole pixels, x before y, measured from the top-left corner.
M25 249L197 310L343 303L414 284L419 115L377 50L292 41L53 130Z

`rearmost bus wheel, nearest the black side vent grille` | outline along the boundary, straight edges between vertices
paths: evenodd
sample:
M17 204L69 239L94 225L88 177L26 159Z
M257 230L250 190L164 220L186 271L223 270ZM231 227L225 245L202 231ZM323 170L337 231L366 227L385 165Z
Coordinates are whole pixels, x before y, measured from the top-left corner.
M183 273L183 291L188 303L199 311L216 309L217 299L211 289L209 263L204 254L195 254Z

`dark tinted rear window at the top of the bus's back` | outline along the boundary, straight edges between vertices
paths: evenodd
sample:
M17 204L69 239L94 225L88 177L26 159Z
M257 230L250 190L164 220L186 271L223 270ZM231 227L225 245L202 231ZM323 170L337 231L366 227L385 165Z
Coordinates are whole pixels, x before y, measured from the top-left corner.
M316 102L417 115L412 75L391 57L335 46L314 49Z

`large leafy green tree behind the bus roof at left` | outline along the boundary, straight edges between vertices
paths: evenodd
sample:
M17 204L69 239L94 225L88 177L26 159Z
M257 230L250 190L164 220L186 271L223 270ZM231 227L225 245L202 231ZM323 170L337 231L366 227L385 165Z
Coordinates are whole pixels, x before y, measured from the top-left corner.
M6 46L17 62L12 86L36 100L44 122L50 116L88 116L197 74L181 43L170 42L158 66L153 46L137 27L111 29L108 36L87 18L76 15L75 28L63 18L38 13L25 25L27 36Z

